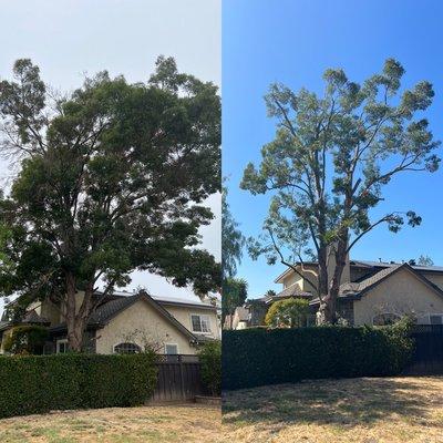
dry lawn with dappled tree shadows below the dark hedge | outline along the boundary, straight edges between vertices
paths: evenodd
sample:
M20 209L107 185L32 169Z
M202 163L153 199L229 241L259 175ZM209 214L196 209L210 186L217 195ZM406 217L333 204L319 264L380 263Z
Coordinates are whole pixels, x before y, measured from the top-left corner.
M443 443L443 378L318 380L230 391L226 441Z

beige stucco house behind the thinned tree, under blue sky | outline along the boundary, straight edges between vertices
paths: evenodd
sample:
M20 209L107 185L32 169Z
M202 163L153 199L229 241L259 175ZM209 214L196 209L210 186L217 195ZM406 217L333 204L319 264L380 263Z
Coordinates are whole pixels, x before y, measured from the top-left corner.
M256 300L259 303L249 308L250 319L259 305L269 307L277 300L301 297L309 300L311 322L316 321L320 305L316 292L318 266L310 261L296 269L301 276L287 269L277 277L275 282L282 285L281 291ZM348 259L338 313L351 326L385 324L404 315L412 315L419 324L443 324L443 267ZM264 316L258 320L256 316L254 324L249 321L247 326L262 323Z

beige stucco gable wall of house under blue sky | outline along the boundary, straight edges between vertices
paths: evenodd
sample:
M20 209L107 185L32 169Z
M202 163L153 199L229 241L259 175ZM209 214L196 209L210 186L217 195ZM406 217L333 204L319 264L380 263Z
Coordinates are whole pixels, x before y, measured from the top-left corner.
M354 324L372 324L382 312L404 315L414 312L420 319L426 313L443 313L443 298L406 269L387 278L353 303Z

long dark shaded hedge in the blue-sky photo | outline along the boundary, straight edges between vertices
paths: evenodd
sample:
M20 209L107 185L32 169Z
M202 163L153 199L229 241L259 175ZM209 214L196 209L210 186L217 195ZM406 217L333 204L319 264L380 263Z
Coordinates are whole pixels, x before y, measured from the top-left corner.
M224 331L223 389L402 371L413 342L405 323L383 328L254 328Z

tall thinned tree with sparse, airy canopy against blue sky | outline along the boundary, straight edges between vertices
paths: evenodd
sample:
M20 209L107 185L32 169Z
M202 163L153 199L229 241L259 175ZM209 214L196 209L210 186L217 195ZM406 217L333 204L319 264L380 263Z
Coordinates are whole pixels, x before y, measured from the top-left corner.
M421 222L411 210L371 217L383 199L382 187L398 174L439 167L434 150L440 143L422 113L434 91L422 81L400 92L403 74L402 65L389 59L361 85L342 70L329 69L322 96L281 84L271 85L266 96L268 115L278 121L276 136L262 147L259 167L246 167L241 187L254 195L270 192L272 198L265 234L249 249L253 257L265 254L269 262L279 259L297 274L297 261L315 258L315 289L326 322L337 321L350 249L379 225L396 233L405 220L411 226ZM336 266L328 275L330 249Z

